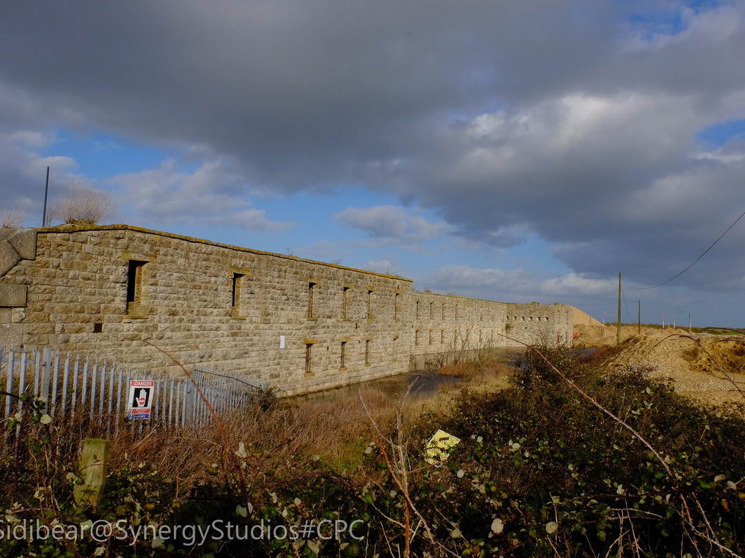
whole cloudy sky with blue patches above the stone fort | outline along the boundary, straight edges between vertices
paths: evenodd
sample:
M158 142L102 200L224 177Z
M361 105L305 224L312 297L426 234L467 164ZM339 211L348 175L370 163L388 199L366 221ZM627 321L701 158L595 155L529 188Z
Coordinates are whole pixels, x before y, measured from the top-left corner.
M745 326L745 0L5 0L0 208Z

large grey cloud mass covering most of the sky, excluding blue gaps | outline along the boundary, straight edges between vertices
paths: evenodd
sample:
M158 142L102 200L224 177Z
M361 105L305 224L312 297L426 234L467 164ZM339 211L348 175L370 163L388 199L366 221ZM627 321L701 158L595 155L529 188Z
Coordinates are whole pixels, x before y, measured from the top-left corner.
M210 195L196 176L130 177L129 203L153 217L195 215L169 192L212 218L244 192L362 184L445 220L340 214L375 238L507 248L529 231L581 277L651 284L745 208L745 151L695 139L745 117L745 4L687 12L674 35L630 23L680 4L10 0L0 134L96 128L215 166ZM40 159L19 141L3 140L20 156L0 171L16 200ZM745 234L726 240L708 265L727 278L685 284L734 288L745 263L726 248Z

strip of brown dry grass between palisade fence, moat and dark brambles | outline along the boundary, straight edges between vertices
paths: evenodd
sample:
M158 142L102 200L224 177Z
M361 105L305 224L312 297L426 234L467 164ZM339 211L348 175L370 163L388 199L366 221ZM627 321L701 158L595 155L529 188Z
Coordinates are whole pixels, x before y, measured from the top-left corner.
M506 365L493 363L478 369L467 363L452 365L443 373L456 374L463 378L463 383L434 392L411 393L403 401L405 436L417 425L436 423L463 386L479 391L498 388L504 385L507 371ZM279 399L266 410L253 407L223 417L221 425L234 448L243 443L249 456L246 460L249 478L291 476L298 465L313 466L314 462L354 477L361 471L366 448L378 441L365 407L384 433L393 433L400 398L401 395L375 386L361 386L356 394ZM164 477L179 480L184 490L214 478L215 474L235 471L235 460L231 459L225 439L214 424L140 433L139 424L114 429L91 427L87 420L87 415L66 420L65 427L59 429L54 427L56 420L48 430L36 425L35 435L48 436L50 443L37 456L23 452L19 463L43 458L53 465L50 470L53 474L54 470L74 466L83 437L99 437L112 441L110 468L148 463ZM28 430L25 434L34 433ZM0 448L0 459L15 460L17 448L3 444Z

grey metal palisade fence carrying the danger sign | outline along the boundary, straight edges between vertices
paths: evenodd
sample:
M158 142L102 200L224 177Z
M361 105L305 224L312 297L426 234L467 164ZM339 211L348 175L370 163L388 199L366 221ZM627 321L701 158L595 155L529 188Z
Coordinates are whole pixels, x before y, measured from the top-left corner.
M209 424L213 418L205 399L218 418L246 408L256 401L262 387L235 372L195 370L191 379L186 375L171 377L49 348L39 351L0 345L5 418L22 411L26 401L37 401L51 418L77 416L90 424L118 425L128 418L133 380L151 386L147 424L169 428Z

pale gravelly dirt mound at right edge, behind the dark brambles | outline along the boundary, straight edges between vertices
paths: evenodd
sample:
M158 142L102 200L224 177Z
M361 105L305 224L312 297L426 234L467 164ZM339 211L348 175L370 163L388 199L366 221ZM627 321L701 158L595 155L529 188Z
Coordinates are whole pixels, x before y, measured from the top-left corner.
M745 404L738 391L738 386L745 391L745 337L647 330L623 342L606 364L644 366L653 377L673 380L677 391L700 402L732 408Z

